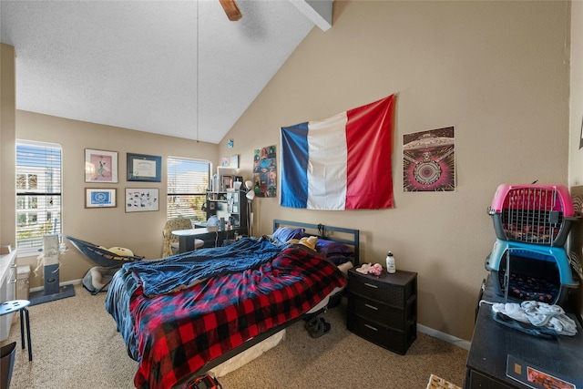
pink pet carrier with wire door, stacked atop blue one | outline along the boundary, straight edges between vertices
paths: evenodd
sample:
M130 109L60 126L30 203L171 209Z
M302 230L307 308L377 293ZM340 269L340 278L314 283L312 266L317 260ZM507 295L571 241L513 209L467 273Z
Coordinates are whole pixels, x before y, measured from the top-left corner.
M565 245L576 219L563 185L500 185L488 213L498 239L555 247Z

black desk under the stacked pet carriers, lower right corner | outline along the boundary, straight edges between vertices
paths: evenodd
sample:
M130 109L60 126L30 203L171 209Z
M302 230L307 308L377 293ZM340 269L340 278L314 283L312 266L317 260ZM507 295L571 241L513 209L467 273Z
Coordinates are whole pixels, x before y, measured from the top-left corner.
M488 277L483 300L503 302L493 286ZM575 315L569 317L578 322ZM579 322L577 331L575 336L561 335L557 340L537 338L495 322L491 306L482 304L467 356L465 389L528 389L506 376L508 355L583 388L583 330Z

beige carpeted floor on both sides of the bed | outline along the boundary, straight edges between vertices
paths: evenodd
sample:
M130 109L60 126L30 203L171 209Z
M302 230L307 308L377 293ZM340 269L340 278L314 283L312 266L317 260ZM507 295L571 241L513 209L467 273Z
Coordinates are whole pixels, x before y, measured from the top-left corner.
M116 324L105 311L105 293L76 295L29 308L33 361L20 348L15 318L9 339L17 341L12 389L133 388L137 363L128 357ZM238 388L412 388L424 389L431 374L463 386L467 351L423 333L405 355L369 343L346 330L345 306L323 317L330 333L312 339L303 322L260 358L220 378ZM3 372L4 373L4 372Z

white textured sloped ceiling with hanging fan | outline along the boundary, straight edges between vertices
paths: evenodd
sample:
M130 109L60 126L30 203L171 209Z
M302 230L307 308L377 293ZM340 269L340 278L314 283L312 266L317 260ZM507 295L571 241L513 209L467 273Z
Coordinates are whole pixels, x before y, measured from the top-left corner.
M16 108L219 143L314 24L332 22L332 0L237 5L230 22L219 0L0 0Z

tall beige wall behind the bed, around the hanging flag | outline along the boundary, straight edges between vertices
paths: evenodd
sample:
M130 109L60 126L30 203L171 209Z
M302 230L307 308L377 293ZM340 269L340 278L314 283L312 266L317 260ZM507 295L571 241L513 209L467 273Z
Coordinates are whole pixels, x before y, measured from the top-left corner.
M274 218L360 229L363 261L383 263L391 250L397 268L419 273L419 323L471 339L497 185L568 182L569 3L337 0L333 12L332 28L312 30L220 155L232 138L249 175L253 148L279 151L281 126L396 93L393 210L256 199L255 229L268 233ZM404 193L403 135L452 125L455 193Z

